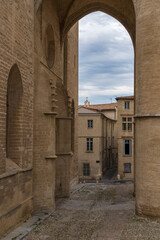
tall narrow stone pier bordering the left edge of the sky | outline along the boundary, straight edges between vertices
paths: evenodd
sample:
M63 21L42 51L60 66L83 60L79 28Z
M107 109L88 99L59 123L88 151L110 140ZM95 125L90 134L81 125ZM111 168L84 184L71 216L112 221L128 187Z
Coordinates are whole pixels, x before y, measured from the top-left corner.
M70 163L70 186L78 182L78 23L76 23L67 34L67 91L72 99L72 129L71 129L71 151L73 153Z

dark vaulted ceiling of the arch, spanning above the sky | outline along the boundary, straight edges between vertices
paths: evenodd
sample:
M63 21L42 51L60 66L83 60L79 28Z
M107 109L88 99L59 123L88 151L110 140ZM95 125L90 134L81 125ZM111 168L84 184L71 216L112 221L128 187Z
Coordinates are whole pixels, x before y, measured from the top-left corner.
M35 12L47 0L35 0ZM81 18L95 11L102 11L117 19L128 31L135 45L135 0L52 0L59 13L61 38Z

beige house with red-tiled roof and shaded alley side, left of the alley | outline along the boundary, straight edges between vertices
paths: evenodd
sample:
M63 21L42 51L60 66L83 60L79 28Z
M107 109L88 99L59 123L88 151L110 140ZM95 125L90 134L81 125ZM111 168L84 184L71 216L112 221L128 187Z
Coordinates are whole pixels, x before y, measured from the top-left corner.
M107 112L109 104L105 106ZM80 181L99 180L108 169L117 167L116 120L106 117L101 109L101 105L81 106L78 109ZM109 106L109 114L114 111L115 106Z

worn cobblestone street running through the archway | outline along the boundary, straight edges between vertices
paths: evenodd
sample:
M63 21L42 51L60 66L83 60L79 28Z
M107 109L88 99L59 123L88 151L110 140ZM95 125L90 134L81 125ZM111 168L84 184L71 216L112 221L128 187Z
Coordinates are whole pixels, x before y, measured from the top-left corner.
M160 221L134 216L133 184L79 184L26 240L160 239Z

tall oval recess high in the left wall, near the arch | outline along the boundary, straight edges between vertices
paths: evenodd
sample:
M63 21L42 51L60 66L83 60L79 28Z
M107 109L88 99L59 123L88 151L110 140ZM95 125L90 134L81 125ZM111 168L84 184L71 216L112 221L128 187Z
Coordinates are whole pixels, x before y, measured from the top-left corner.
M48 67L52 68L55 60L55 40L51 24L48 24L45 33L45 56Z

